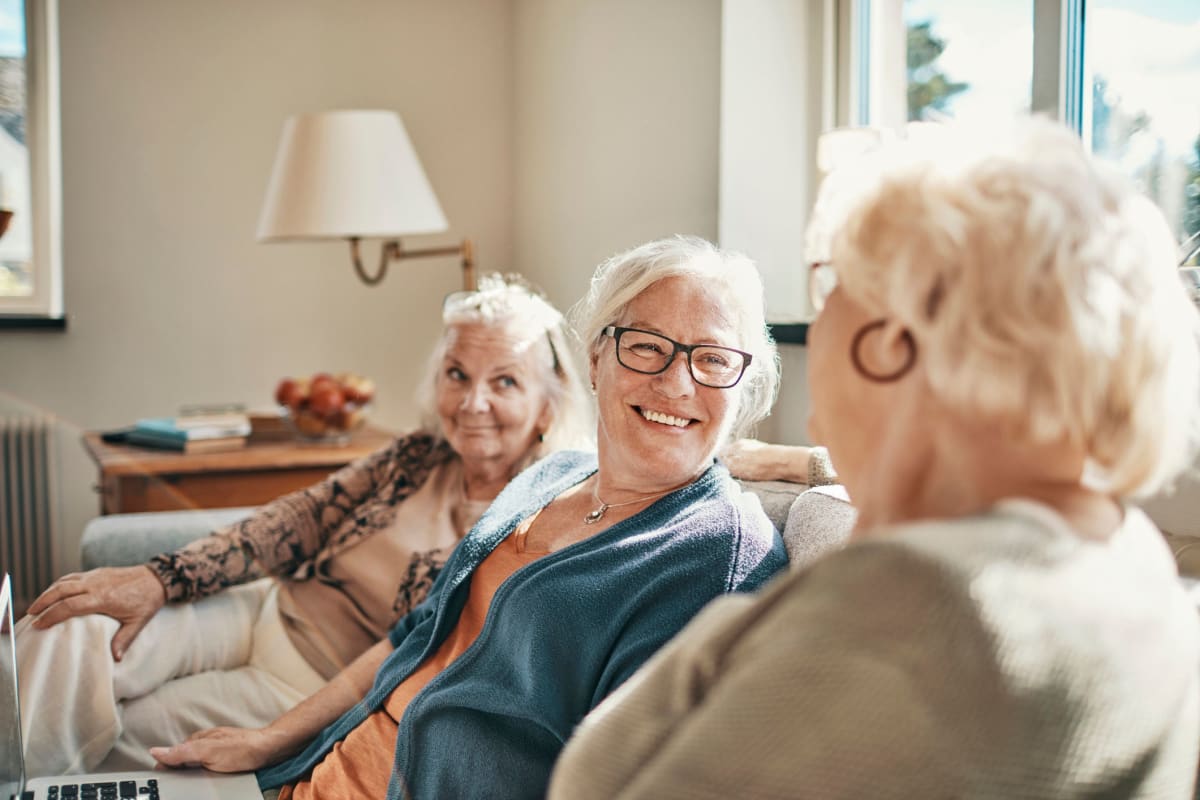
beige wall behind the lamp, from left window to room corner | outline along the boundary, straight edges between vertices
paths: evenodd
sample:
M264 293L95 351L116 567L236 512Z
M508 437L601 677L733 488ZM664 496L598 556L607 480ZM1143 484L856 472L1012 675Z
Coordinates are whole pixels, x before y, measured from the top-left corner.
M412 384L460 287L455 259L367 288L344 246L258 245L283 120L401 113L451 231L512 260L512 14L506 0L64 0L66 332L0 332L7 405L60 417L61 567L96 513L83 429L182 403L268 405L276 380L352 369L377 419ZM376 247L368 247L373 258Z

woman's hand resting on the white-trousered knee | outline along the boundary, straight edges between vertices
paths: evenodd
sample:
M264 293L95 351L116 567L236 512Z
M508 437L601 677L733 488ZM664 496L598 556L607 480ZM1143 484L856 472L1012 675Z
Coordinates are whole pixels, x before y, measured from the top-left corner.
M106 614L121 626L113 636L113 657L125 655L130 643L167 603L167 590L148 566L100 567L65 575L30 607L34 627L47 628L72 616Z

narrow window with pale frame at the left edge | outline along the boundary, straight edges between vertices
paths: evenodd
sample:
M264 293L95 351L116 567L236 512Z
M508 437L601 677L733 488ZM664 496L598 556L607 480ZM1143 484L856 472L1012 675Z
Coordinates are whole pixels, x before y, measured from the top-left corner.
M0 0L2 315L62 315L56 11Z

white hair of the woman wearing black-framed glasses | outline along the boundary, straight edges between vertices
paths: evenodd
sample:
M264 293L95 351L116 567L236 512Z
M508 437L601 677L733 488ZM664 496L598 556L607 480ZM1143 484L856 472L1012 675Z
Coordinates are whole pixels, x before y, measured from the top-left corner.
M762 278L745 255L719 249L698 236L659 239L613 255L596 267L587 295L570 311L586 354L589 359L598 355L604 329L616 324L638 295L668 277L718 284L737 313L739 348L752 359L738 384L742 396L731 433L746 435L775 402L779 355L767 330Z

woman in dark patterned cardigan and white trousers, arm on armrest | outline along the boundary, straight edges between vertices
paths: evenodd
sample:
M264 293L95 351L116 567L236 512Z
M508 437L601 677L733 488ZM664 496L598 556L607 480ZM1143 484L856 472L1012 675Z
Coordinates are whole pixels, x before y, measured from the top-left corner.
M419 431L180 551L66 576L34 602L18 625L32 775L145 768L151 745L270 722L424 599L517 471L589 441L563 317L522 278L450 295L443 325Z

